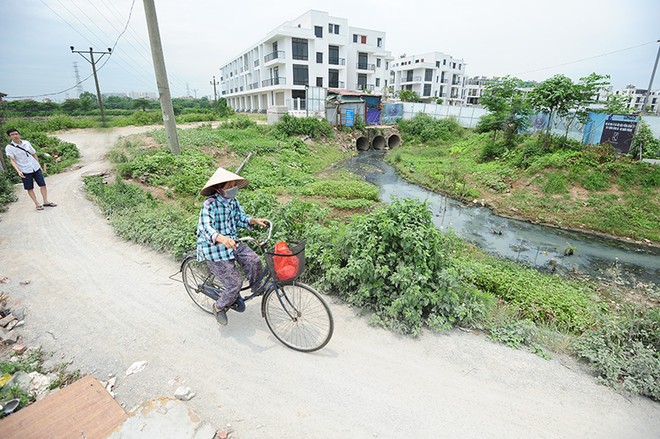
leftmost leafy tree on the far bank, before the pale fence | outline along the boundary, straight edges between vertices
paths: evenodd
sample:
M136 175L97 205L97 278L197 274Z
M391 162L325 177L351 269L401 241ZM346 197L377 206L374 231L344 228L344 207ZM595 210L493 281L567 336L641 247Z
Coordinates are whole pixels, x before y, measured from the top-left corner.
M527 128L531 107L522 92L522 80L505 76L486 84L480 99L481 104L490 112L479 120L479 131L492 131L493 142L497 132L504 133L507 146L512 146L516 135Z

